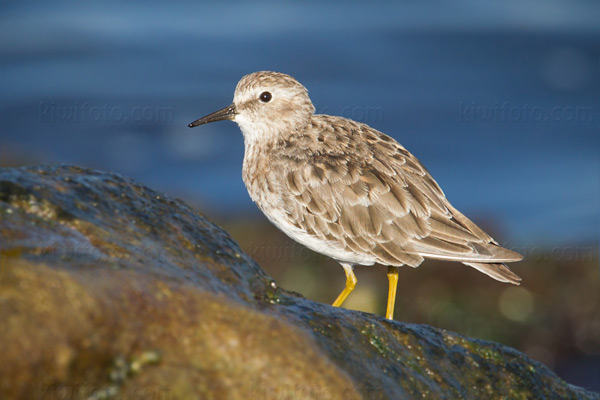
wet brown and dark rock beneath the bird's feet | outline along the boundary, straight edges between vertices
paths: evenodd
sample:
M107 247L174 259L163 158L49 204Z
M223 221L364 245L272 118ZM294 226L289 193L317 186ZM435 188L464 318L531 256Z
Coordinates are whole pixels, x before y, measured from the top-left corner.
M599 399L497 343L278 288L116 174L0 169L0 399Z

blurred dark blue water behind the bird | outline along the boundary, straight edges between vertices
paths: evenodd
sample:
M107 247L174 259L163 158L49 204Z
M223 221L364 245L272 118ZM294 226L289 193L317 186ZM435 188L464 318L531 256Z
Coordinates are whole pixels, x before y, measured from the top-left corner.
M515 244L598 243L600 3L42 2L0 6L0 163L132 176L254 212L228 105L256 70L366 122Z

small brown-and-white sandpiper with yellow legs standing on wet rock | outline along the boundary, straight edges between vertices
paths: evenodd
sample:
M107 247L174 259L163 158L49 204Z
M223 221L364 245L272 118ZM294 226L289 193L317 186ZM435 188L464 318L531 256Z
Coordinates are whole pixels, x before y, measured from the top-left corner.
M341 264L387 266L386 318L394 318L401 266L456 261L500 282L521 278L522 260L454 208L425 166L392 137L348 118L315 114L308 90L290 75L243 76L233 103L188 126L231 120L244 136L242 178L267 219L293 240Z

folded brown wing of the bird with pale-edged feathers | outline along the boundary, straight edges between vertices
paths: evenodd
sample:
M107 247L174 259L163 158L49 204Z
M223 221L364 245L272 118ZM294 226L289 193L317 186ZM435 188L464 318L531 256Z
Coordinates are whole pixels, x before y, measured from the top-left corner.
M287 173L289 223L385 265L423 258L509 262L504 249L454 209L425 167L392 138L358 125L368 151L319 153Z

